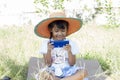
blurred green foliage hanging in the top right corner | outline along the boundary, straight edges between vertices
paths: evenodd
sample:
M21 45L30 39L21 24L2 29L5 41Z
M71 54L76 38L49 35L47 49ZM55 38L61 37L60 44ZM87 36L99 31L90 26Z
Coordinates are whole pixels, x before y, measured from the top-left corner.
M98 4L98 8L96 9L96 12L99 14L107 14L106 18L107 18L107 24L105 25L105 27L107 28L115 28L115 27L119 27L120 22L119 22L119 15L120 12L116 12L117 10L120 10L117 7L112 6L112 2L109 0L104 0L104 2L100 1L100 0L96 0L97 4Z

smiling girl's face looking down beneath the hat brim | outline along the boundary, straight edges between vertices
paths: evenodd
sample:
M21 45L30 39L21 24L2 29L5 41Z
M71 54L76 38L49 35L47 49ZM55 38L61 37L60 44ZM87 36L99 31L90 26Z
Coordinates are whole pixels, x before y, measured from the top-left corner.
M63 40L67 35L67 28L59 29L56 25L52 28L52 37L54 40Z

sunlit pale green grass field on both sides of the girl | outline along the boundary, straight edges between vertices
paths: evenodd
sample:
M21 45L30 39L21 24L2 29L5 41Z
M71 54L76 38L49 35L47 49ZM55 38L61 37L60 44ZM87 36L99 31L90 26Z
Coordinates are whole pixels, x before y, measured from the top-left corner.
M120 79L120 28L105 29L93 24L84 25L71 36L80 47L77 57L97 59L108 80ZM41 40L34 27L0 27L0 78L7 75L12 80L26 80L30 57L38 54Z

